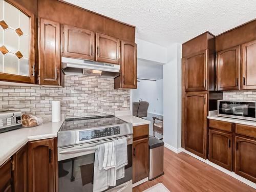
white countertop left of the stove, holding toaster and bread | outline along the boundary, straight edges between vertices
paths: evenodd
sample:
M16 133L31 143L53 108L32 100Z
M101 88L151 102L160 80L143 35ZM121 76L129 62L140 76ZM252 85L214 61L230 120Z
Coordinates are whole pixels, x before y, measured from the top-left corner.
M57 133L65 121L61 115L60 122L44 122L31 128L22 128L0 134L0 165L15 154L28 141L57 137Z

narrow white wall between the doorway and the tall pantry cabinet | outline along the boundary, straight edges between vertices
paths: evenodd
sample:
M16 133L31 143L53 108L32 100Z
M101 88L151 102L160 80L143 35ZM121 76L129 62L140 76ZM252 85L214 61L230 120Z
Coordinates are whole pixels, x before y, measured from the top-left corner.
M181 44L167 48L163 66L164 142L178 150L181 147Z

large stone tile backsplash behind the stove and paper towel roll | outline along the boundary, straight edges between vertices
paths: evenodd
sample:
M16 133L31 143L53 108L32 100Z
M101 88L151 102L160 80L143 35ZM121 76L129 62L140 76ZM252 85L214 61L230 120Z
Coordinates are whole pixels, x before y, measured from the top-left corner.
M61 112L68 118L130 110L130 90L114 90L113 78L66 75L65 88L0 86L0 110L48 115L52 100L61 101Z

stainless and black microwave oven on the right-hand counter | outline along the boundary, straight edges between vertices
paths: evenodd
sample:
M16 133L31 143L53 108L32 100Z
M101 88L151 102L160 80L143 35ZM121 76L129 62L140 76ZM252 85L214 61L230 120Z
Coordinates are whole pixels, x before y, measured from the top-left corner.
M256 101L218 100L218 116L256 121Z

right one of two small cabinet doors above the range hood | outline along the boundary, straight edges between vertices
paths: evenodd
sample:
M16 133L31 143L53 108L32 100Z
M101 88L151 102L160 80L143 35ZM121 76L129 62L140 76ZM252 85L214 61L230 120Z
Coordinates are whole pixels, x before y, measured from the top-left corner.
M119 39L96 33L96 61L119 64Z

